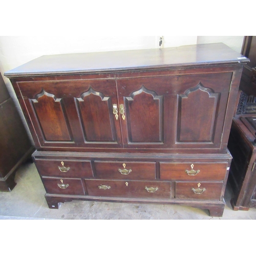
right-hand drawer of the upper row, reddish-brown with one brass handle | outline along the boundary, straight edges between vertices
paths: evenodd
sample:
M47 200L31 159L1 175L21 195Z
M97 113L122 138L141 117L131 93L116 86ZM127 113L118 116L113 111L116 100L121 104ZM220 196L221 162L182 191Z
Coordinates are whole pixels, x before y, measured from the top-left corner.
M224 180L227 163L163 163L160 179L164 180Z

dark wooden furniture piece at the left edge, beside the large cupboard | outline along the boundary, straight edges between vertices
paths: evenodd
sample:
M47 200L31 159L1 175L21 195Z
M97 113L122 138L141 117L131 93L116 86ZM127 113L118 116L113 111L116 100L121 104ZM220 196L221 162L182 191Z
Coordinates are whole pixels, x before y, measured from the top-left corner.
M16 185L17 168L34 151L16 106L0 74L0 191L11 191Z

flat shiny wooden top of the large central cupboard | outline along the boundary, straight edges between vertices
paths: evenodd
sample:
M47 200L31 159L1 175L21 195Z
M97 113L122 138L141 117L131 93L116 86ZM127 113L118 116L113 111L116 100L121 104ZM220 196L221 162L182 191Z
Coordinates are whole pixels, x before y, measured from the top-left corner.
M6 77L149 70L249 59L222 43L175 48L44 55L5 73Z

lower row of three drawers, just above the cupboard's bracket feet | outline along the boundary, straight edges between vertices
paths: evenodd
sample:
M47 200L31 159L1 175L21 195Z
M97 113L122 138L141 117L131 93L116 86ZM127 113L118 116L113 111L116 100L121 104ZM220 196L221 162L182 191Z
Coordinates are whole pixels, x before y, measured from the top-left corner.
M46 192L97 197L220 200L223 182L42 178Z

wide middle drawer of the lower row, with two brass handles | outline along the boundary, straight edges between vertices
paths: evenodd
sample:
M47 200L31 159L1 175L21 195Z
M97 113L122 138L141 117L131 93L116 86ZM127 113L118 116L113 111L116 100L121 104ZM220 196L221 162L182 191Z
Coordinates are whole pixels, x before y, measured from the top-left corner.
M86 180L89 196L170 198L170 182Z

